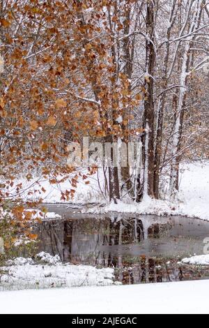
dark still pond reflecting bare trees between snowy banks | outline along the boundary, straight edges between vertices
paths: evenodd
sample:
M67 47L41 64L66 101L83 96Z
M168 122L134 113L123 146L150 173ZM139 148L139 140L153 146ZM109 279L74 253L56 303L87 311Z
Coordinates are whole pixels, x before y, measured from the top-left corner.
M48 205L61 218L34 227L38 251L59 254L63 262L114 267L123 284L183 281L209 277L209 267L181 264L203 254L209 222L185 217L81 214L65 205Z

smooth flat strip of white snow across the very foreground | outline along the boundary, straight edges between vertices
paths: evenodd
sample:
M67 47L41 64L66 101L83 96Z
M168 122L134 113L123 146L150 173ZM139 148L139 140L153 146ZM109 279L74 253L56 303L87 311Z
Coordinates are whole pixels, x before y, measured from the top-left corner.
M209 281L0 292L0 313L209 313Z

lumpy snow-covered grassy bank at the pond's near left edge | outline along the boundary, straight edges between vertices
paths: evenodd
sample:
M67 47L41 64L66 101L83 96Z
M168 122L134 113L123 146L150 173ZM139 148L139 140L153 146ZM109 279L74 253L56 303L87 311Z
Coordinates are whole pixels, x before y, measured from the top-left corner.
M96 269L88 265L71 265L60 262L58 255L39 253L36 264L32 258L10 260L0 267L0 288L6 290L60 288L91 285L112 285L114 269Z

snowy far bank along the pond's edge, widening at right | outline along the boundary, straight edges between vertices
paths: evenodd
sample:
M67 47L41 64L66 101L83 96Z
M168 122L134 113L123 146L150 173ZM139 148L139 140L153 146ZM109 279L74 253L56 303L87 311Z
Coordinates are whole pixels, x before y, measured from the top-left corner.
M108 204L105 207L88 209L88 213L104 214L110 211L120 213L150 214L156 216L188 216L209 221L209 163L182 165L178 201L153 200L144 198L140 203Z

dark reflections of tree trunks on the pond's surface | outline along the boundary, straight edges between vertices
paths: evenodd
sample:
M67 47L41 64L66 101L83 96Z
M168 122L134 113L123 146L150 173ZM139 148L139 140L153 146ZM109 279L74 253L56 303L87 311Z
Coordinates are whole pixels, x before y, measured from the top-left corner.
M176 259L168 264L167 258L154 257L146 251L152 251L150 240L162 238L171 228L171 223L145 226L139 218L112 216L44 221L37 230L40 251L59 254L63 262L114 267L116 278L122 283L199 278L196 269L180 267ZM137 250L137 255L132 254L133 249ZM209 275L208 271L203 275Z

